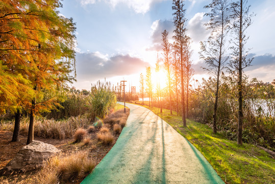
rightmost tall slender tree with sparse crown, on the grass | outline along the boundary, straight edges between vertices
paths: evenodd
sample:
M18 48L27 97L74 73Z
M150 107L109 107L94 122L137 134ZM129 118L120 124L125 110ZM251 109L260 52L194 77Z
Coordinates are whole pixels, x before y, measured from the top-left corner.
M251 65L253 59L246 58L248 51L245 50L245 43L248 37L245 34L246 29L252 24L252 17L254 13L249 14L250 6L247 5L247 0L240 0L231 3L231 18L234 20L232 23L232 39L233 47L232 59L230 60L230 72L237 77L238 88L238 145L242 145L242 122L243 122L243 74L242 70Z

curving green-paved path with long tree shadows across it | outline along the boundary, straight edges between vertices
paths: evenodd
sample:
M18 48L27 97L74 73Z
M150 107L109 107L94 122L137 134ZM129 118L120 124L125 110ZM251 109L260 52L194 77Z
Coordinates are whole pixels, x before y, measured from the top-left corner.
M147 108L130 116L116 144L85 183L224 183L204 156Z

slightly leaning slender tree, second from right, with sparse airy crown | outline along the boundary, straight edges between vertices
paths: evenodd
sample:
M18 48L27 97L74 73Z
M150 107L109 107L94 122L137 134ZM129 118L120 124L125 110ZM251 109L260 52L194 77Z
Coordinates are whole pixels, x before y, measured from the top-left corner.
M212 2L205 6L209 8L210 13L206 13L206 16L210 17L210 20L205 24L208 30L211 30L211 35L208 40L201 42L201 58L205 60L208 68L204 68L210 74L214 75L216 79L216 91L215 102L213 109L213 132L217 133L217 108L219 98L219 86L220 86L220 74L223 70L224 63L227 62L228 56L226 56L226 36L228 33L229 25L229 2L228 0L212 0Z

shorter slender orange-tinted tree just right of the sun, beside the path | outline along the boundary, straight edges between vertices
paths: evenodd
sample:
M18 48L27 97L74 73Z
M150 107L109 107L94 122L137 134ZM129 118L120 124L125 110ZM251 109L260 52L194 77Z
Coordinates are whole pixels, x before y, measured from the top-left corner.
M162 51L164 57L164 66L167 71L168 77L168 87L169 87L169 105L170 105L170 114L172 114L172 105L171 105L171 44L168 40L168 31L164 30L162 32Z

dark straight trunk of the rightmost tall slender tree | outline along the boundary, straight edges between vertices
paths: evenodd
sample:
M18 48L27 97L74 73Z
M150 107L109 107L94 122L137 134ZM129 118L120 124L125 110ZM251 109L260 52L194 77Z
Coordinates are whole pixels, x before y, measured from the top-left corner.
M240 1L240 32L239 32L239 80L238 80L238 145L242 145L242 0Z

